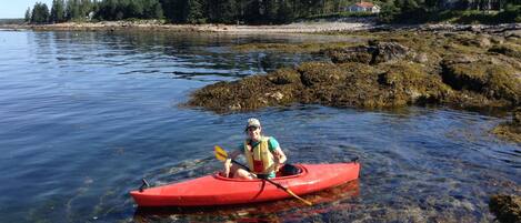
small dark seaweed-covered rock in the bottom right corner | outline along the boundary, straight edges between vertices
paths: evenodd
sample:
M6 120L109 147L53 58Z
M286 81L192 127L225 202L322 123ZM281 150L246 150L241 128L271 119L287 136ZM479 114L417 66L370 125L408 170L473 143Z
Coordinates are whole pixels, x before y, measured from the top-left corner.
M518 195L493 195L489 209L501 223L521 222L521 197Z

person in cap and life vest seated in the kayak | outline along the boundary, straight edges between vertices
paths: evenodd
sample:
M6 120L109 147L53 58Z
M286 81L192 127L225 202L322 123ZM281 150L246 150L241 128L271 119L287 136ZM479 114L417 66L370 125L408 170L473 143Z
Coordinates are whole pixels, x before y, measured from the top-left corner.
M258 119L248 119L244 132L248 135L247 139L238 150L230 153L224 162L224 176L244 180L274 178L287 160L279 142L272 136L262 134L262 126ZM231 162L240 154L246 156L249 171Z

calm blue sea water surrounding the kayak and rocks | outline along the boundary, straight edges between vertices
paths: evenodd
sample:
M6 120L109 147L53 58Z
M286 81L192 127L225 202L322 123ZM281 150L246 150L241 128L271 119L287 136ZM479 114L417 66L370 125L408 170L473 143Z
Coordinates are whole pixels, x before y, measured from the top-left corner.
M508 116L445 108L320 105L214 114L179 107L191 92L302 61L234 52L248 42L320 36L0 31L1 222L489 222L488 199L519 193L521 145L488 131ZM345 41L349 41L347 39ZM128 192L220 169L260 118L293 163L359 156L358 182L295 201L212 210L138 210Z

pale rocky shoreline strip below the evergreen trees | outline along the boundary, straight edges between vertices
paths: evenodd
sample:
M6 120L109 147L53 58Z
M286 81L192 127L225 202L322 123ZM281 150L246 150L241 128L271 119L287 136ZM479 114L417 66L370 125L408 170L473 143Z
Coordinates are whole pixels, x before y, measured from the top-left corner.
M371 20L298 22L280 26L247 24L164 24L158 21L64 22L56 24L3 24L0 29L37 31L173 31L222 33L328 33L363 30L421 30L421 31L491 31L521 30L521 23L504 24L377 24Z

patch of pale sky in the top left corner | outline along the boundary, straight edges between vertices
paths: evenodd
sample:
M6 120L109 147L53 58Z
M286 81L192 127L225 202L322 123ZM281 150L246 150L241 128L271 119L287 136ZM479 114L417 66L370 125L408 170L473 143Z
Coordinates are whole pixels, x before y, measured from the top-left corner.
M46 3L49 10L52 7L52 0L0 0L0 19L14 19L26 17L26 10L36 2Z

